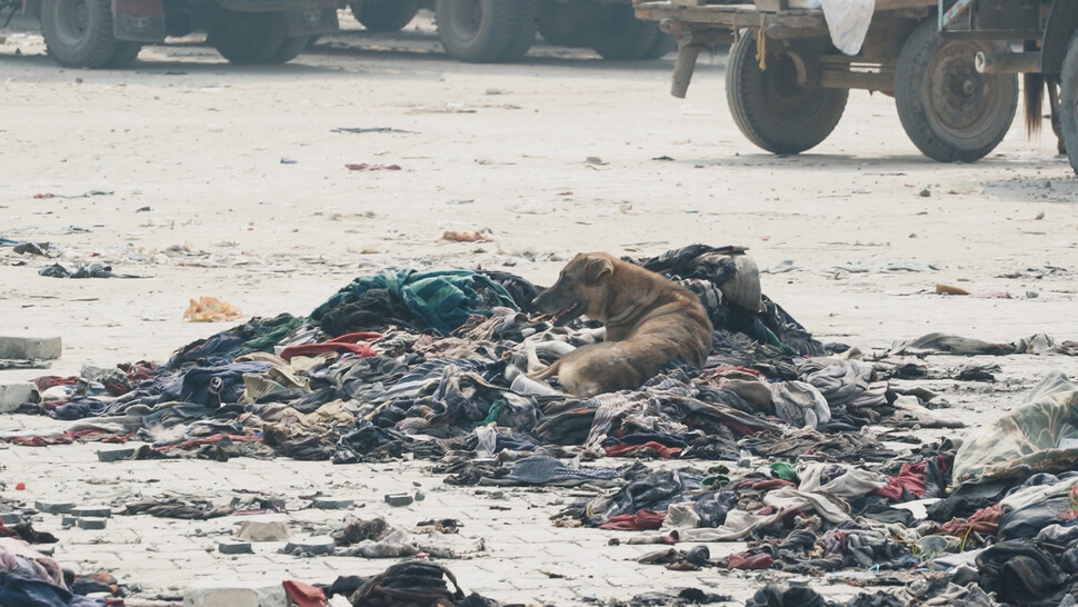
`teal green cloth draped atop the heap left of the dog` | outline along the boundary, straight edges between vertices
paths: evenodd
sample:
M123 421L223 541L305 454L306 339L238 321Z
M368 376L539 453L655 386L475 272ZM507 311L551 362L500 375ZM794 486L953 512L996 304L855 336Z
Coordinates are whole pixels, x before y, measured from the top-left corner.
M423 325L448 335L473 314L490 314L492 306L519 310L509 291L470 270L396 272L361 276L311 312L315 320L329 310L359 299L370 289L387 289Z

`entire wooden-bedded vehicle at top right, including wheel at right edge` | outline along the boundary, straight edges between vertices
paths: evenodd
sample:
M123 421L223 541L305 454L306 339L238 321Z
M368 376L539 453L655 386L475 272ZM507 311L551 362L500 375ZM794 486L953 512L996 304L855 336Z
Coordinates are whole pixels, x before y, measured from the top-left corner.
M844 6L850 6L850 2ZM1017 112L1019 78L1030 131L1047 91L1059 150L1078 172L1078 2L1075 0L868 0L860 43L831 28L812 0L642 0L638 18L677 37L671 93L685 97L702 49L732 43L726 96L735 123L772 153L822 142L849 91L894 96L912 143L941 162L991 152ZM840 36L836 36L836 31Z

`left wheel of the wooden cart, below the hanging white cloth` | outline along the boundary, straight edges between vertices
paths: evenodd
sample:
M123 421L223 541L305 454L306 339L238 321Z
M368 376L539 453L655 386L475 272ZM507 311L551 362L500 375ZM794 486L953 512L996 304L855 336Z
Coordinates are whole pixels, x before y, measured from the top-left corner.
M847 89L799 86L788 54L769 54L761 70L755 36L742 36L730 49L726 99L733 122L769 152L800 153L819 145L842 118L848 97Z

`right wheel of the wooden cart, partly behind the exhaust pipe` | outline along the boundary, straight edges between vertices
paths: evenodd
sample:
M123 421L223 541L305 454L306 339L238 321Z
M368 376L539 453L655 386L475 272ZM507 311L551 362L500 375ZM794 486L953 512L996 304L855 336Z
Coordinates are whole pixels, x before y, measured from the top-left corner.
M945 40L935 19L909 36L895 71L898 118L921 152L940 162L980 160L1002 141L1018 109L1018 76L974 68L1005 42Z

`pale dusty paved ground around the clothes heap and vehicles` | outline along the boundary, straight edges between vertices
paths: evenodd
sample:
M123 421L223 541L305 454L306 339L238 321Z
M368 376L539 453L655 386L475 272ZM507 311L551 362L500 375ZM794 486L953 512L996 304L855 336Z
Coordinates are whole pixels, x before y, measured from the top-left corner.
M42 259L0 248L0 332L60 335L64 346L50 370L0 378L163 360L224 328L182 321L198 296L229 301L244 318L301 315L385 265L482 266L549 283L581 250L648 256L693 242L747 246L765 269L791 262L788 271L765 273L763 290L825 341L872 349L929 331L1078 338L1078 180L1050 136L1027 141L1018 125L989 158L938 165L906 138L890 98L858 91L827 141L777 158L746 141L730 119L721 54L701 57L688 99L679 100L667 93L670 57L611 63L590 51L537 46L518 64L462 64L439 52L427 23L397 37L348 31L266 68L230 66L189 43L149 47L128 70L67 70L33 33L0 38L0 237L49 242L59 253ZM402 170L345 167L360 162ZM479 230L488 241L447 241L446 230ZM146 278L38 276L57 261L103 261ZM1010 297L942 297L937 283ZM1078 370L1072 358L997 362L997 384L937 388L979 422L1048 369ZM9 417L0 427L38 421ZM3 495L93 495L77 478L36 496L12 491L20 475L48 477L66 460L98 479L118 474L93 464L89 448L64 455L76 449L83 448L0 450ZM153 474L126 470L132 484ZM366 487L380 497L393 476L376 474ZM166 475L177 488L193 487L197 477ZM475 498L460 499L447 495L442 507ZM543 519L535 533L549 529ZM493 537L488 545L497 545ZM589 549L609 556L613 548L599 534L572 541L525 567L540 579L535 587L507 586L508 574L483 569L489 565L458 577L503 600L573 604L592 581L591 574L571 575L571 565L590 561ZM618 565L632 556L626 548L609 557L626 568L611 575L651 586L658 568ZM96 564L161 590L222 567L176 571L170 564L167 575L154 574L152 558L94 559L68 547L69 563L64 550L57 554L66 565ZM569 579L537 574L545 558ZM289 571L329 581L331 570L385 566ZM709 575L710 584L727 584ZM708 578L661 574L667 586L695 579ZM626 598L632 589L607 581L591 596Z

